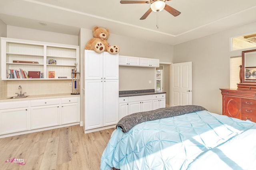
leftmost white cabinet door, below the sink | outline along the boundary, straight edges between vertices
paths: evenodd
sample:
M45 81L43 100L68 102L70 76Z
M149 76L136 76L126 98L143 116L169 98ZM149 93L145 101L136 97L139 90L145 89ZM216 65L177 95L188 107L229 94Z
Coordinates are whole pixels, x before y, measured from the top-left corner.
M0 110L0 135L27 130L28 107Z

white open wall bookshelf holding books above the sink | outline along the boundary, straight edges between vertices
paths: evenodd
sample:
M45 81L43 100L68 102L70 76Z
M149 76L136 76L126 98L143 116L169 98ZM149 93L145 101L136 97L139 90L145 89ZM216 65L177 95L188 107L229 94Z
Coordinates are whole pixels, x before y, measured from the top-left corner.
M72 79L79 46L1 37L2 80Z

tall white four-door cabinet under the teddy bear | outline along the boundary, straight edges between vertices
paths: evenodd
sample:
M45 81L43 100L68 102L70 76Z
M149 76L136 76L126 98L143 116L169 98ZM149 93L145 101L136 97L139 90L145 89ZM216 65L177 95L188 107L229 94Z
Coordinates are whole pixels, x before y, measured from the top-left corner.
M84 51L84 130L119 120L118 54ZM90 132L90 131L89 131Z

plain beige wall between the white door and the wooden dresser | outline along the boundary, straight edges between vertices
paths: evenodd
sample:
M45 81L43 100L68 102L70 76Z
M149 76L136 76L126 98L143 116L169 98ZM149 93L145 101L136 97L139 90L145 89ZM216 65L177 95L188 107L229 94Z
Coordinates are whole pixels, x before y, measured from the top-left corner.
M174 46L174 63L192 61L192 104L222 114L220 88L230 87L230 37L256 31L256 22Z

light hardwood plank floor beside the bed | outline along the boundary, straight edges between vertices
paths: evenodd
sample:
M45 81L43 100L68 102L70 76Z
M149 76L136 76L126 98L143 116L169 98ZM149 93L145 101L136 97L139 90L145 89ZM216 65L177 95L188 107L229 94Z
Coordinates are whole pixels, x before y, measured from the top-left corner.
M106 129L84 134L79 125L0 139L0 170L99 170L110 135ZM25 165L6 162L24 159Z

